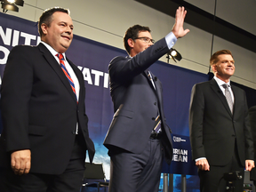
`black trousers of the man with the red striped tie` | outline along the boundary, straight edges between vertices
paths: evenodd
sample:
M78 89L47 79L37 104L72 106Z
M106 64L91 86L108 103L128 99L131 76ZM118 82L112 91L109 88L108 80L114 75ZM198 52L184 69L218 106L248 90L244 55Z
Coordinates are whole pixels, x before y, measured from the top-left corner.
M76 136L77 137L77 136ZM65 172L60 175L29 172L15 175L11 168L0 171L2 192L79 192L84 179L85 146L76 139ZM84 145L83 144L83 145ZM45 154L47 156L47 154ZM44 164L44 162L42 162Z

